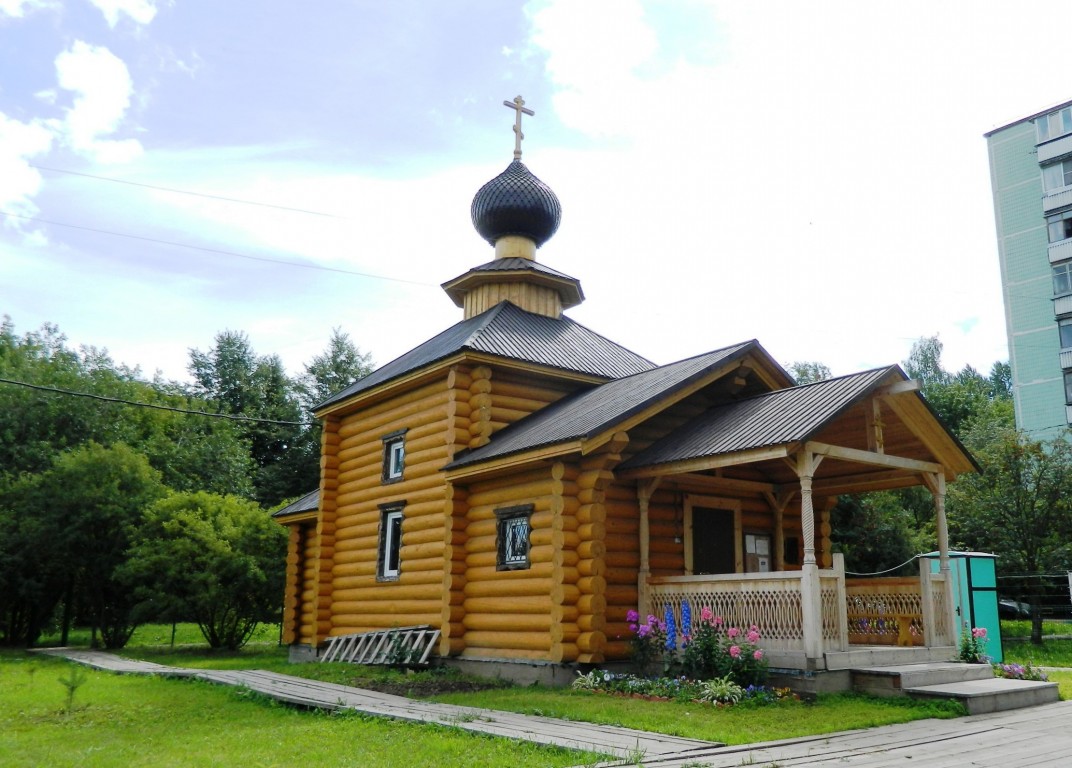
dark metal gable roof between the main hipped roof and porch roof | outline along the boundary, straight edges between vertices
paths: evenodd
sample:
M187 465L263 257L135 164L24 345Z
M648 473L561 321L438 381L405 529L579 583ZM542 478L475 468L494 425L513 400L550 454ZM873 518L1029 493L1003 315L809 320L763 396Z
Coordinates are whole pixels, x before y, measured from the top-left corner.
M570 395L500 430L487 445L459 454L447 469L599 434L713 368L756 349L759 342L745 341Z

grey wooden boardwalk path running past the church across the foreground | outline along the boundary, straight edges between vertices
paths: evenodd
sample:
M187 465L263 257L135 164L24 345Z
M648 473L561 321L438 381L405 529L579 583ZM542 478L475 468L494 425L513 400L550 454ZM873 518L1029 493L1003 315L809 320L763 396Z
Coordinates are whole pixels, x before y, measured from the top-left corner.
M277 673L217 671L167 667L110 653L49 651L99 669L193 677L250 690L297 705L356 709L399 720L437 723L542 744L629 757L647 768L736 768L742 765L833 768L961 768L1072 765L1072 701L980 714L924 720L762 744L720 747L642 730L535 718L474 707L415 701L401 696L322 683Z

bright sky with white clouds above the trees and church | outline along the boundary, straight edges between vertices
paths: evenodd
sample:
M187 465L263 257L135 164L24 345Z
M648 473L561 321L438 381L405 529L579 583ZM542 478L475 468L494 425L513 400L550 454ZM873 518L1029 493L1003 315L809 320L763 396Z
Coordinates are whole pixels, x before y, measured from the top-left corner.
M1043 21L1044 19L1044 21ZM239 330L292 373L462 317L470 204L563 205L574 320L659 363L1008 358L983 133L1072 99L1072 4L0 0L0 314L142 375Z

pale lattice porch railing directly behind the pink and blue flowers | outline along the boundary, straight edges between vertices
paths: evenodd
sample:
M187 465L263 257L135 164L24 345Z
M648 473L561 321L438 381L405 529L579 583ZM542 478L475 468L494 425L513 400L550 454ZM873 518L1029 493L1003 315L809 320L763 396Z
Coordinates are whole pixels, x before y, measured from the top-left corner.
M769 651L804 651L800 571L762 574L661 576L649 581L649 610L664 618L667 606L682 631L682 605L686 601L693 622L703 608L711 608L728 626L755 624L760 645ZM844 577L836 571L819 571L822 644L827 650L844 650Z

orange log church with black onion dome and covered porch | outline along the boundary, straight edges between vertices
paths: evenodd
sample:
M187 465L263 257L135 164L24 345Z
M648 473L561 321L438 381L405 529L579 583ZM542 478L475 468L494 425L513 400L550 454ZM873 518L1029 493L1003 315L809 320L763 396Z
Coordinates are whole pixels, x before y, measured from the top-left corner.
M284 637L430 625L447 660L626 660L626 612L757 624L773 667L948 659L946 484L976 466L896 365L796 386L755 340L656 366L574 322L536 260L561 206L521 162L476 193L494 259L443 284L461 321L318 407L317 491L289 530ZM940 567L847 579L840 493L925 485ZM894 584L896 581L896 584ZM925 659L919 659L925 661ZM564 666L563 666L564 665Z

